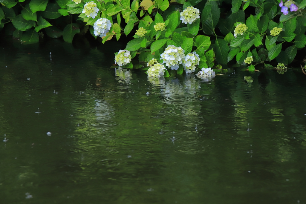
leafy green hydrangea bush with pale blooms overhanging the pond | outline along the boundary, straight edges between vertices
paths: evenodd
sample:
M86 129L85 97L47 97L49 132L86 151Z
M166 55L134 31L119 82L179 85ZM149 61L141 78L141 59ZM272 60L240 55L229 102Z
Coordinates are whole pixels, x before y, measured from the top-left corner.
M0 30L24 44L43 35L72 43L86 32L101 43L133 37L115 53L117 65L147 71L143 65L162 64L164 77L223 73L227 63L253 72L303 61L297 51L305 53L305 6L306 0L3 0Z

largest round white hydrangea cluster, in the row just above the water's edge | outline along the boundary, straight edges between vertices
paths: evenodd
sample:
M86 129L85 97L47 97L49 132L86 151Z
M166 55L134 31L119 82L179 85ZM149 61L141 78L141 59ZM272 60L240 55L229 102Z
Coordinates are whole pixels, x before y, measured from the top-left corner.
M182 60L185 58L185 50L181 47L174 45L168 45L165 51L160 55L160 59L163 60L163 64L171 69L178 69L178 65L182 64Z

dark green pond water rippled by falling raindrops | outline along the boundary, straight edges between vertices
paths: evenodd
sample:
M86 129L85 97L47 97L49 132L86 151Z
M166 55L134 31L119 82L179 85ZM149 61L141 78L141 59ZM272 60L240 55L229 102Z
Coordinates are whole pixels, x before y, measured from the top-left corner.
M0 45L1 204L306 203L300 70L149 81L123 48Z

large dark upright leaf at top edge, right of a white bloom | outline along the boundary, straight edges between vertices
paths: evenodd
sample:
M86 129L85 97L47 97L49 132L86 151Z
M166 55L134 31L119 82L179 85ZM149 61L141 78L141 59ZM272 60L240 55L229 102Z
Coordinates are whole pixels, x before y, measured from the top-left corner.
M208 4L211 5L211 9L208 11L208 17L205 21L205 23L203 24L203 31L206 35L211 35L214 33L214 29L217 25L217 23L219 22L219 18L220 18L220 8L218 6L218 4L215 1L207 1L206 5ZM205 9L205 7L204 7ZM203 21L203 20L202 20Z

